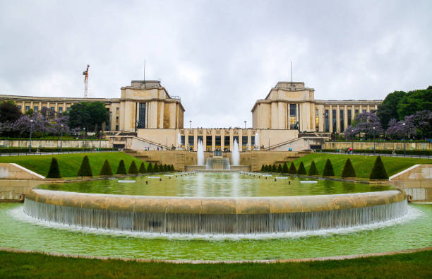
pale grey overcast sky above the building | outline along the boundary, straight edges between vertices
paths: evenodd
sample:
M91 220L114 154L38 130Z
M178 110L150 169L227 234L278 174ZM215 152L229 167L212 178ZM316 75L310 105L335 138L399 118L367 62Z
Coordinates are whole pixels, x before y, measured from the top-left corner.
M160 80L185 126L251 126L277 81L318 100L432 85L432 1L0 0L0 94L119 97Z

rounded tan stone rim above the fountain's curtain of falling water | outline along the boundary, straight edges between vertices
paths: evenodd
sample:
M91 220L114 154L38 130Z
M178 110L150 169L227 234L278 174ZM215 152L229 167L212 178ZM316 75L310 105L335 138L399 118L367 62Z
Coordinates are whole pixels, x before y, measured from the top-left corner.
M406 198L403 190L319 196L268 196L203 198L170 196L126 196L87 194L32 189L31 201L77 208L120 210L135 213L185 214L269 214L302 213L349 208L364 208L397 203Z

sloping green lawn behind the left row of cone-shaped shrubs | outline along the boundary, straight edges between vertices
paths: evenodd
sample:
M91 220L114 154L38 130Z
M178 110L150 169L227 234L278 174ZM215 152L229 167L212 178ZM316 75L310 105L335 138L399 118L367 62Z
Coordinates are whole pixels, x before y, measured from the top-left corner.
M90 166L92 167L93 175L99 175L105 159L108 159L112 167L112 171L117 171L120 160L124 160L126 170L131 165L132 160L135 160L137 167L141 165L141 160L132 157L122 152L104 152L104 153L73 153L61 155L28 155L28 156L5 156L0 157L0 162L15 162L33 172L46 176L49 170L49 165L53 157L59 162L59 169L62 177L76 177L78 169L85 155L88 155ZM147 166L147 165L146 165Z

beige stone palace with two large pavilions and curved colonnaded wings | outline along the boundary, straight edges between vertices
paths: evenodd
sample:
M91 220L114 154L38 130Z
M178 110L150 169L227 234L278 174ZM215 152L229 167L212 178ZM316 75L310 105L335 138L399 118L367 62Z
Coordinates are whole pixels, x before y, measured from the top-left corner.
M360 112L375 112L381 100L315 100L315 90L301 82L278 82L265 99L257 100L251 112L249 129L184 129L184 107L160 81L131 81L121 88L119 98L28 97L0 95L0 101L13 100L25 113L47 107L64 112L78 102L103 102L109 112L102 126L112 144L136 150L184 148L196 150L203 142L207 151L255 148L283 150L299 137L343 133ZM120 133L126 132L126 133ZM308 148L309 143L308 143ZM298 147L301 148L301 147Z

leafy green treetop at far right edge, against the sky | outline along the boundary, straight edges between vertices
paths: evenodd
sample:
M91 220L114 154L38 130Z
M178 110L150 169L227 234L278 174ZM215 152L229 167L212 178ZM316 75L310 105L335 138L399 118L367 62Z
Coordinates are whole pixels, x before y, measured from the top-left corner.
M428 110L432 107L432 89L409 91L397 106L399 119L404 119L408 115L415 114L421 110Z

